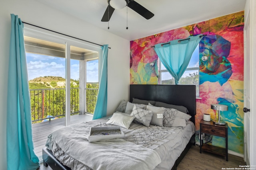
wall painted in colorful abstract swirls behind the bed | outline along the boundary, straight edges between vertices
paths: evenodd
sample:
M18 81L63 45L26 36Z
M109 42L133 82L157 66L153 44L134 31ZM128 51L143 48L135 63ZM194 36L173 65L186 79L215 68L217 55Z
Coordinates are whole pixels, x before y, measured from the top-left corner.
M244 12L130 41L130 84L158 84L158 56L152 46L191 35L204 34L199 43L199 89L196 100L196 130L204 113L215 119L211 104L224 104L221 119L228 123L228 149L244 152ZM205 48L204 47L205 43ZM202 52L208 54L202 61ZM157 63L150 66L150 63ZM213 136L212 145L225 147L224 138Z

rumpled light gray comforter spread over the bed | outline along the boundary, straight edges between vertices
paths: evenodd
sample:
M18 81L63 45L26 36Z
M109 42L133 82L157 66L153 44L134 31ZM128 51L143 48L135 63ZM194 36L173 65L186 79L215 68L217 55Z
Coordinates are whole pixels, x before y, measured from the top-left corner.
M74 170L170 170L194 133L193 123L185 130L132 123L129 129L122 129L124 139L89 143L90 127L111 126L106 121L102 118L54 131L46 147Z

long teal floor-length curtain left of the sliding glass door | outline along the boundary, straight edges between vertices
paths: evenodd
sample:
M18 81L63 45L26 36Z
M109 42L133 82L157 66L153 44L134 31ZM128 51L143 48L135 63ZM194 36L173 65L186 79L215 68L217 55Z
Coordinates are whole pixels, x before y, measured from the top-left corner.
M23 37L23 23L11 14L11 39L7 97L7 168L36 170L40 167L34 153L28 70Z

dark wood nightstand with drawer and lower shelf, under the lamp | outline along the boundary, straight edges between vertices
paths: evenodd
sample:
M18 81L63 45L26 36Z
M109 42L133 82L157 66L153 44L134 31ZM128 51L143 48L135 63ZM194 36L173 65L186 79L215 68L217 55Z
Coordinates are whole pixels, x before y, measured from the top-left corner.
M216 147L212 145L203 145L202 134L209 134L219 137L224 137L226 139L226 148ZM228 161L228 125L216 125L212 121L204 121L203 119L200 121L200 153L202 153L202 149L207 152L212 152L214 154L219 154L226 156L226 161Z

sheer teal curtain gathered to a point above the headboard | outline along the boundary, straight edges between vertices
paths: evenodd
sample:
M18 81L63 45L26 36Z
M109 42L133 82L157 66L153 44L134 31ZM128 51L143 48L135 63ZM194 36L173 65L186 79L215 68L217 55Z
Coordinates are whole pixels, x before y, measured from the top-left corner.
M156 44L154 50L165 68L178 84L188 67L192 53L204 35L190 36L187 39L176 39L168 43Z

